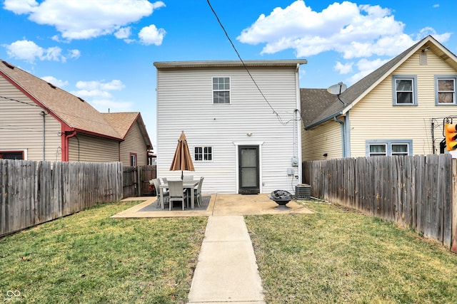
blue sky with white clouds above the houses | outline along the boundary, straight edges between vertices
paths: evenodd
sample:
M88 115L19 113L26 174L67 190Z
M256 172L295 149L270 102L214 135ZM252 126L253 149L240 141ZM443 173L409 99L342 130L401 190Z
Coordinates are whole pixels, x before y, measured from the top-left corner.
M457 1L210 0L243 60L307 59L301 88L351 85L431 34L457 53ZM141 112L156 145L155 61L237 60L207 0L3 0L0 58Z

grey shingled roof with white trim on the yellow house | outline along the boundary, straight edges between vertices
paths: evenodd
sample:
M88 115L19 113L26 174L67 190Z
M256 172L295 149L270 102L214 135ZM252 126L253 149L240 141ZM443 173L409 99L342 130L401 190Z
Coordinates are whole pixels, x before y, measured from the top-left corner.
M317 125L320 125L323 122L333 119L338 115L343 115L348 110L351 110L354 105L358 103L366 94L368 94L378 83L381 83L388 75L390 75L393 70L398 68L403 62L405 62L413 53L416 53L421 48L429 47L429 51L436 53L437 56L443 59L446 63L451 65L453 68L457 69L457 57L451 53L447 48L445 48L441 43L435 40L432 36L427 36L423 38L418 43L415 43L410 48L407 48L400 55L391 59L380 68L374 70L372 73L366 75L361 80L358 80L357 83L351 85L346 91L339 95L339 99L336 95L327 95L323 96L318 90L324 89L304 89L301 90L301 94L313 94L315 96L307 96L303 98L301 96L302 102L305 102L305 105L301 105L302 112L310 111L313 117L304 121L305 130L309 130ZM316 90L316 91L311 91ZM341 99L341 100L340 100ZM343 104L344 103L344 104ZM323 109L322 109L323 108ZM318 109L322 109L320 112Z

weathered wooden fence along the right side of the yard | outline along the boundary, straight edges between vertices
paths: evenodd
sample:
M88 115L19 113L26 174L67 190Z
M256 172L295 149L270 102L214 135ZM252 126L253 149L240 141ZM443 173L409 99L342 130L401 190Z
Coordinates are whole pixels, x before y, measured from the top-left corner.
M450 154L303 162L311 196L457 246L457 159Z

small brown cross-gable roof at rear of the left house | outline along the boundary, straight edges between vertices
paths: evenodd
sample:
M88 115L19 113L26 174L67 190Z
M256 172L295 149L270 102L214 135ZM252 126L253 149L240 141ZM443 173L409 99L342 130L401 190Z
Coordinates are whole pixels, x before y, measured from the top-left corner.
M123 140L125 140L127 133L134 123L138 121L144 142L146 142L149 149L152 149L151 140L149 139L149 135L146 131L146 126L144 125L140 112L101 113L101 115L107 122L109 122L110 125L114 127L114 130L116 130Z

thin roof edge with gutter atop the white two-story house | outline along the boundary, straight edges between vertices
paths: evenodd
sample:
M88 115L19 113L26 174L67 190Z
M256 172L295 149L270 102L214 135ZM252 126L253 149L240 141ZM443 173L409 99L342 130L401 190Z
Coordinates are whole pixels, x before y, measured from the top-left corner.
M306 64L306 59L273 60L273 61L163 61L154 62L158 70L183 68L296 68Z

